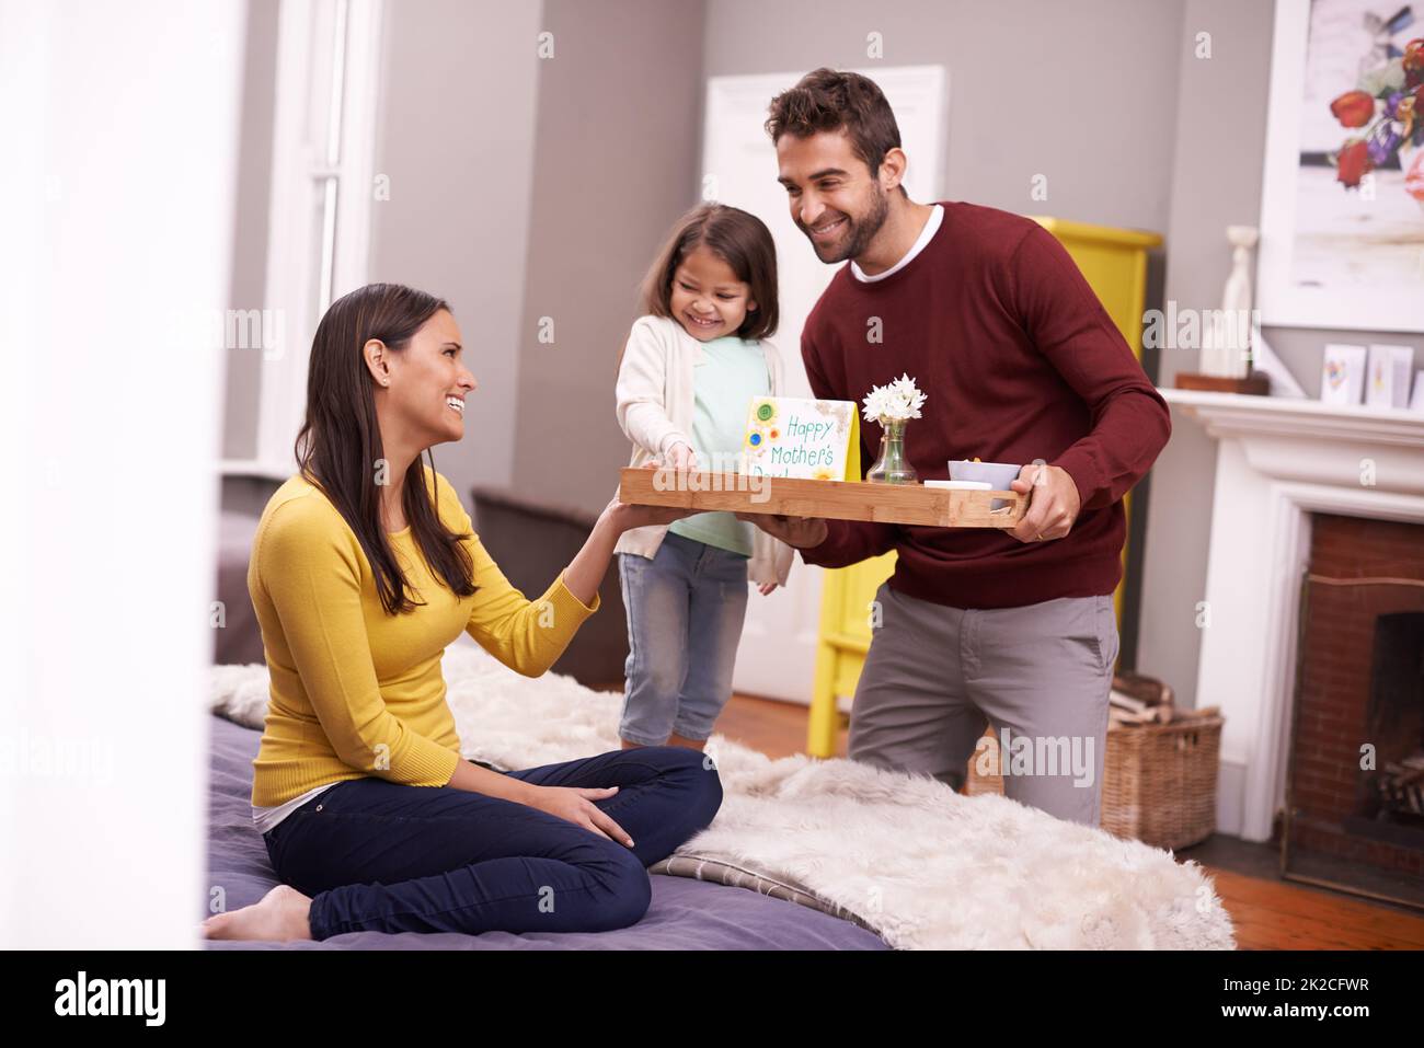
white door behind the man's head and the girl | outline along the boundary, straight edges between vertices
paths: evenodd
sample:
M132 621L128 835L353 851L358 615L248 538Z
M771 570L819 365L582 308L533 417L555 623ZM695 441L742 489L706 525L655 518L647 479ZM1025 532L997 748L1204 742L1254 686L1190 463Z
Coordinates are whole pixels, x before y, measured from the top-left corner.
M856 71L874 80L894 110L900 141L910 158L906 192L917 202L938 199L944 114L948 111L947 71L943 66ZM806 235L792 222L786 189L776 181L776 150L762 127L772 97L795 85L800 75L708 78L702 195L752 212L772 231L780 276L780 328L772 340L786 362L786 396L809 397L810 386L800 363L802 325L839 265L817 259ZM854 399L859 402L869 392L860 390ZM822 570L802 564L797 557L786 587L770 597L753 588L732 681L735 691L810 702L820 582Z

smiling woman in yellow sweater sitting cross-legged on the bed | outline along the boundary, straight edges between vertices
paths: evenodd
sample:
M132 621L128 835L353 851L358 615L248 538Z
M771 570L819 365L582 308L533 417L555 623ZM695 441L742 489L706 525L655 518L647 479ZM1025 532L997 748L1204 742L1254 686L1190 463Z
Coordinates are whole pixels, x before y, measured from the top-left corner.
M688 513L615 497L525 599L420 459L464 436L461 353L450 308L399 285L346 295L318 326L300 468L248 568L272 681L252 812L283 884L205 921L211 938L625 927L648 908L646 867L722 802L685 748L508 773L460 758L446 646L466 631L538 676L598 609L618 537Z

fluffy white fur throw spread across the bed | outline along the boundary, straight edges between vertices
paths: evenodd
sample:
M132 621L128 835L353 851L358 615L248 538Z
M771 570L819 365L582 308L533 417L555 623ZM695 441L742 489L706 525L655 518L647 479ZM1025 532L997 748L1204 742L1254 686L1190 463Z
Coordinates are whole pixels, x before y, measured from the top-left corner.
M466 758L533 767L618 749L622 698L520 676L473 641L444 656ZM266 666L212 668L212 711L251 728ZM676 854L796 884L904 950L1232 950L1195 861L1000 796L853 760L772 760L715 735L725 797Z

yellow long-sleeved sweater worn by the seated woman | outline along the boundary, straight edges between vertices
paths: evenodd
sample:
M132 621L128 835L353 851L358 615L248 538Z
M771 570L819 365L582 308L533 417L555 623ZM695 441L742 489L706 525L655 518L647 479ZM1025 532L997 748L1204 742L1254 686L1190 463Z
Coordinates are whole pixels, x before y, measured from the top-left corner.
M440 520L473 533L450 481L433 476ZM296 474L262 511L248 592L272 682L252 762L253 806L365 776L444 786L461 759L440 674L446 646L464 631L504 665L538 676L598 611L598 595L584 605L562 574L540 599L525 599L478 535L464 540L478 591L457 598L409 527L389 538L412 599L426 601L404 615L386 614L356 534L320 488Z

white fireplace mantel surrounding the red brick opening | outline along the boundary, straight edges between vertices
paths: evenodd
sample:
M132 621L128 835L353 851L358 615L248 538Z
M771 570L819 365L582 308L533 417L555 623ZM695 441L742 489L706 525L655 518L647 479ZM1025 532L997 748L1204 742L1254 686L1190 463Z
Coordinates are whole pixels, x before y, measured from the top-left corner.
M1424 414L1163 389L1218 440L1196 705L1220 706L1218 830L1284 806L1310 514L1424 523Z

